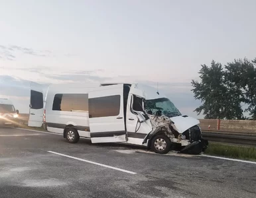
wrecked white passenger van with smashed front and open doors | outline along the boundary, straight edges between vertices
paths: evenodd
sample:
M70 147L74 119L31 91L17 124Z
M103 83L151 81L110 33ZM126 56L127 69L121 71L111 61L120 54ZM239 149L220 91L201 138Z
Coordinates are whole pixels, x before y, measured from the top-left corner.
M206 149L198 119L180 114L163 93L143 84L97 86L50 85L44 92L31 84L29 126L62 133L69 143L143 145L167 153L172 145L185 152Z

